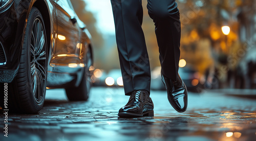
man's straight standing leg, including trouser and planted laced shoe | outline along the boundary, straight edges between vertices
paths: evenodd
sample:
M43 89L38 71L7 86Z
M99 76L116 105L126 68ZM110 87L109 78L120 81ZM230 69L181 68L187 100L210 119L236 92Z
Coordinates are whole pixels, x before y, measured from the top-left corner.
M125 95L131 95L120 108L119 117L154 116L150 98L150 63L141 29L141 0L111 0L116 40Z

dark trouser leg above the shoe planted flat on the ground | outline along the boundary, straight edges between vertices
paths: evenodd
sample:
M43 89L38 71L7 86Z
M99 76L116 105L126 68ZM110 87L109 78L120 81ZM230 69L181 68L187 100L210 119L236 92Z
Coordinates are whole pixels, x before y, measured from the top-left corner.
M111 0L125 95L150 92L150 63L141 28L141 0Z

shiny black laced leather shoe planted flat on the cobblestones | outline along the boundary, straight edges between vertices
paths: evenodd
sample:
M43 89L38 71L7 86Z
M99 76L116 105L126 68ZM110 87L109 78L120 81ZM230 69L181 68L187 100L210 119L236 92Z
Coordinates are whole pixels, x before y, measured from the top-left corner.
M154 104L147 91L134 91L128 103L120 108L122 118L154 117Z

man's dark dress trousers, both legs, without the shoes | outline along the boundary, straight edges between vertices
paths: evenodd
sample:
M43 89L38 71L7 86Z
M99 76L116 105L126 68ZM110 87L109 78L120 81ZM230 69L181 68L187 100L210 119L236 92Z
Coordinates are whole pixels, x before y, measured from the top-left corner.
M144 33L141 0L111 0L116 41L125 95L136 90L150 92L151 70ZM180 14L175 0L147 0L155 23L162 73L177 79L180 59Z

